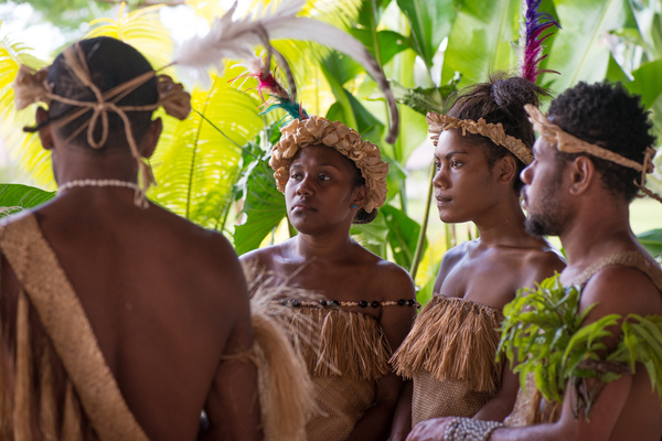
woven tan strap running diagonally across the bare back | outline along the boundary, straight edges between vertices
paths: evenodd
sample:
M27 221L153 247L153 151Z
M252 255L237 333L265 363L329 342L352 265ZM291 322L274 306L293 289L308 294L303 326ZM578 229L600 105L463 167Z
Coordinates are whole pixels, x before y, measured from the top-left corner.
M1 227L0 249L36 310L100 440L147 441L34 215Z

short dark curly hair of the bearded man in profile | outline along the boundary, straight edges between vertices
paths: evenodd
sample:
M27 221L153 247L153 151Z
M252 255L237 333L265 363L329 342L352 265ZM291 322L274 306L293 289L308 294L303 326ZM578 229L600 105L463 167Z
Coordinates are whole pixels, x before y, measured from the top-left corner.
M579 83L552 101L549 116L564 131L639 163L645 148L655 142L641 98L620 83ZM557 152L556 157L572 161L579 154ZM634 198L640 172L596 157L591 161L606 190L628 202Z

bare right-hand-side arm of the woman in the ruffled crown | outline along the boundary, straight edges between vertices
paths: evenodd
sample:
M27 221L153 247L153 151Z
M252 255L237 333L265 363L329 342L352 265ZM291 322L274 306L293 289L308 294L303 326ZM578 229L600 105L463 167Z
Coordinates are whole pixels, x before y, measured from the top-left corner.
M414 299L414 283L409 276L397 268L391 270L386 278L385 287L393 299ZM388 345L397 349L412 329L416 310L414 306L382 306L380 326L382 327ZM375 405L359 420L350 434L349 441L385 440L391 431L393 413L397 405L404 380L395 374L388 374L377 383Z

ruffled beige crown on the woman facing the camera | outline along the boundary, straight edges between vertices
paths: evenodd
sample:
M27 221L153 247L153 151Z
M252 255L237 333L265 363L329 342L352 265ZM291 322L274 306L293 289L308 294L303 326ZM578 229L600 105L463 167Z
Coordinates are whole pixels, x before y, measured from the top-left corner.
M384 205L386 201L386 175L388 163L382 161L380 148L370 141L363 141L361 136L340 121L311 116L308 119L295 119L280 130L282 137L274 146L269 165L274 169L276 185L285 192L289 179L289 166L299 149L306 146L327 146L348 157L361 170L367 186L367 201L363 206L365 212Z

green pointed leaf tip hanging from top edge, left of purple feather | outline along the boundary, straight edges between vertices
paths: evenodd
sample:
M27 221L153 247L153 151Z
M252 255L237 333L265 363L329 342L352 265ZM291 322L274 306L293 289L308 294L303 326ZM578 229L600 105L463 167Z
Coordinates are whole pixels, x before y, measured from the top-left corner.
M397 0L397 6L409 21L409 45L418 53L428 69L441 41L450 32L456 7L452 0Z

